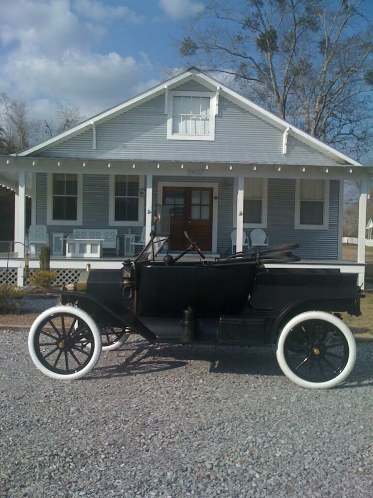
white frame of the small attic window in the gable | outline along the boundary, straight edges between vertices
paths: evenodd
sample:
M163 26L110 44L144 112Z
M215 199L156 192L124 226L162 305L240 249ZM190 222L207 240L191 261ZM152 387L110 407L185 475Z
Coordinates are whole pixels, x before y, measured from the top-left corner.
M174 97L209 97L210 98L210 122L208 135L182 135L173 133ZM167 139L168 140L215 140L215 116L216 116L216 92L178 92L170 90L165 97L168 99L167 109Z

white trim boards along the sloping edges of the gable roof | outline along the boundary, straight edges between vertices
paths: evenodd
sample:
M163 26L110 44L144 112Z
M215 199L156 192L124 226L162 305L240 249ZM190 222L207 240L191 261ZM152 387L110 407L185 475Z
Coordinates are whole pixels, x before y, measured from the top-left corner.
M30 154L33 154L39 150L42 150L48 146L55 145L59 143L62 140L65 140L68 137L72 137L76 134L78 134L80 131L86 130L88 128L92 128L96 124L102 123L106 121L109 118L113 118L117 114L120 114L122 112L128 111L129 109L132 109L133 107L136 107L140 104L143 104L144 102L153 99L154 97L164 94L168 92L168 90L171 90L175 86L181 85L184 82L187 82L189 80L195 80L196 82L200 83L201 85L205 86L206 88L209 88L212 91L218 91L220 95L222 95L225 98L228 98L232 102L236 103L243 109L246 109L250 111L251 113L255 114L256 116L260 117L261 119L274 124L278 128L281 129L281 131L288 130L288 134L291 136L294 136L298 138L299 140L303 141L304 143L307 143L314 149L324 153L325 155L334 158L336 161L341 162L341 163L348 163L350 165L355 165L355 166L363 166L360 162L356 161L355 159L343 154L342 152L339 152L338 150L334 149L330 145L325 144L321 140L309 135L308 133L305 133L299 128L296 128L295 126L292 126L289 123L286 123L276 115L270 113L266 109L258 106L257 104L254 104L254 102L251 102L249 99L243 97L242 95L238 94L234 90L231 90L230 88L226 87L225 85L222 85L220 82L217 80L211 78L207 74L203 73L200 71L198 68L192 67L189 68L187 71L167 80L166 82L163 82L154 88L136 96L133 97L132 99L129 99L126 102L123 102L119 104L118 106L115 106L111 109L108 109L107 111L104 111L103 113L100 113L93 118L90 118L83 123L80 123L76 126L73 126L71 129L64 131L62 133L59 133L53 138L49 138L48 140L44 140L43 142L40 142L37 145L34 145L32 147L29 147L17 154L13 155L19 155L19 156L27 156Z

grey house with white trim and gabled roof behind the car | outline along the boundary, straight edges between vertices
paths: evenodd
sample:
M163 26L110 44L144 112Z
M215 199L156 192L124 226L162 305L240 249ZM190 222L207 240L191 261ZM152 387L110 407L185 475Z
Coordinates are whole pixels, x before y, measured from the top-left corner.
M299 243L298 264L358 272L363 283L371 177L372 170L356 160L190 68L0 157L0 183L16 198L16 252L9 268L21 284L29 196L31 223L46 226L49 244L58 247L51 266L61 275L72 275L88 260L63 254L59 241L64 244L67 235L78 240L96 231L97 239L111 230L118 235L118 256L104 251L92 258L92 267L119 268L143 227L149 240L153 210L161 203L172 212L173 252L183 249L184 230L216 256L231 251L232 230L242 250L243 231L261 228L270 245ZM361 184L355 264L342 261L343 184L352 179ZM30 267L37 265L31 259ZM5 266L2 257L0 268Z

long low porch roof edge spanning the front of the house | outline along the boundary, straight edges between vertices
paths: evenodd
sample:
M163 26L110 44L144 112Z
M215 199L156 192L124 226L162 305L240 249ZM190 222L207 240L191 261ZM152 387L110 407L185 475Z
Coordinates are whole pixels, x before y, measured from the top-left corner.
M139 174L178 177L258 177L258 178L322 178L361 180L373 176L372 167L301 166L298 164L206 162L206 161L138 161L118 159L77 159L50 157L0 156L0 184L15 190L18 173L26 173L26 195L31 196L32 173Z

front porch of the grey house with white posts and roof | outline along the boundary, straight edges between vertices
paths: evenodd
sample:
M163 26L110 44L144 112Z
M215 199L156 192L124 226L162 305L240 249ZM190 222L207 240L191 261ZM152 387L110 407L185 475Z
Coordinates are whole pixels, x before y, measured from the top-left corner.
M54 175L77 178L75 190L67 193L66 188L69 185L65 180L65 191L61 194L58 190L60 186L57 184L56 187L54 184ZM136 180L133 180L134 177ZM117 185L117 178L122 181L121 184ZM351 179L359 181L361 187L357 263L342 259L343 184L344 181ZM137 182L135 187L134 181ZM309 199L307 197L303 199L300 193L303 181L316 182L311 183L311 187L323 185L322 198L318 198L312 189L308 188ZM343 164L323 167L172 161L133 163L122 160L107 162L99 159L82 161L9 157L0 158L0 182L15 192L13 250L16 252L11 255L9 268L12 268L12 275L17 273L18 285L23 284L26 195L32 199L31 224L46 226L49 245L52 248L53 234L58 234L61 239L66 236L71 237L74 231L83 229L115 230L118 234L120 241L118 255L109 256L105 251L101 257L94 258L52 255L51 268L58 270L62 275L63 270L65 273L68 270L77 273L84 269L88 262L93 269L120 268L121 261L125 257L133 257L133 252L131 254L131 251L128 251L126 243L129 238L137 236L138 240L145 227L144 243L149 241L149 234L154 224L154 207L157 203L168 204L174 209L174 213L178 213L180 197L174 195L175 192L178 195L184 192L183 208L186 206L184 215L188 209L187 215L183 215L182 220L187 225L184 226L183 223L180 225L180 233L182 234L186 228L189 229L189 226L193 227L196 221L200 222L198 228L200 236L195 238L199 240L205 235L204 232L208 231L208 238L204 240L204 251L212 258L217 255L225 256L231 252L232 230L237 231L235 250L240 251L244 247L245 232L248 235L251 230L260 227L266 232L271 246L283 243L300 244L299 250L294 252L302 258L301 264L309 264L312 267L320 265L325 268L340 267L341 271L359 273L359 284L364 283L365 218L370 177L361 167ZM57 206L55 198L66 200L69 196L75 199L76 220L55 219L53 214L54 206ZM308 225L307 222L302 222L300 215L302 202L305 208L318 203L321 216L318 225L312 225L314 220L309 216ZM119 215L122 216L125 212L125 216L129 219L117 217L117 205ZM134 209L136 219L131 214ZM129 210L129 215L126 210ZM247 216L249 211L252 219ZM174 230L175 227L176 223ZM193 236L192 232L191 235ZM171 250L178 252L179 248L171 247ZM4 257L0 258L0 268L5 267L4 254ZM31 257L30 269L37 267L38 258ZM15 279L14 275L12 279Z

